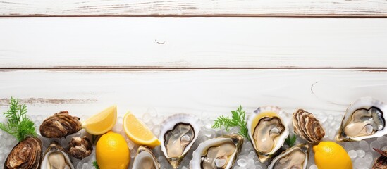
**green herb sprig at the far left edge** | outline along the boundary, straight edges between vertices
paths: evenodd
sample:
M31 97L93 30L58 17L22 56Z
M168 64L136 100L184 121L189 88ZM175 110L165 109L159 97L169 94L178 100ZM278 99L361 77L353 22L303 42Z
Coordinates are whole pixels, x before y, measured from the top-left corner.
M27 136L36 137L35 124L26 115L27 106L19 104L19 99L13 97L9 100L9 104L9 110L3 113L8 121L0 123L0 129L16 137L19 142Z

